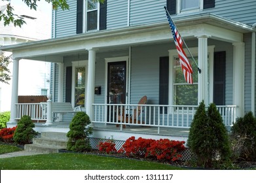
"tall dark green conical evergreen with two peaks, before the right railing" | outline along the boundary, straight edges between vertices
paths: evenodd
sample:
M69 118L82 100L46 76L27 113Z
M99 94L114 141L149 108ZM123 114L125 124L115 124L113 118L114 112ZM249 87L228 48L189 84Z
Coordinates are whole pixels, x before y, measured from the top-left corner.
M189 131L188 146L199 166L220 167L223 162L229 162L229 134L213 103L207 111L204 101L200 103Z

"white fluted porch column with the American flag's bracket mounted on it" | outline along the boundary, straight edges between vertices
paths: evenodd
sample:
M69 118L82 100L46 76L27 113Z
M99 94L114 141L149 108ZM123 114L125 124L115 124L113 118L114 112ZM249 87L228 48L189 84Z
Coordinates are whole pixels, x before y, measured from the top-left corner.
M204 100L204 104L208 106L208 36L206 35L198 37L198 67L201 69L201 73L198 73L198 104Z

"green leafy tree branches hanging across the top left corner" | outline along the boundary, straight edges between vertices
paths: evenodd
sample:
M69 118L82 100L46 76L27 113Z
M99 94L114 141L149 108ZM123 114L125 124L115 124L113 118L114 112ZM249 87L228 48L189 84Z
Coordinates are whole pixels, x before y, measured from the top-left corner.
M0 0L1 1L7 1L7 0ZM37 2L40 0L22 0L24 3L29 7L30 9L37 10ZM66 0L45 0L47 3L52 3L52 8L54 10L58 10L58 8L61 8L62 10L68 10L69 5L67 5ZM95 2L103 3L105 0L92 0ZM21 27L23 24L26 24L26 22L13 14L14 8L12 7L11 3L6 3L6 5L0 6L0 22L3 21L4 25L10 25L14 24L14 26Z

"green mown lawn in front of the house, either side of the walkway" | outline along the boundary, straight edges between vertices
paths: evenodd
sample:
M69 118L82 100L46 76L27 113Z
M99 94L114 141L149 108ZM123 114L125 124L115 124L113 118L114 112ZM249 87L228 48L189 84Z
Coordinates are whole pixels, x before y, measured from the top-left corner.
M0 144L3 152L14 146ZM5 149L5 151L4 151ZM16 148L15 148L16 149ZM12 151L11 151L12 150ZM16 149L17 150L17 149ZM15 150L14 150L15 151ZM93 154L58 153L0 159L1 170L177 170L163 163Z

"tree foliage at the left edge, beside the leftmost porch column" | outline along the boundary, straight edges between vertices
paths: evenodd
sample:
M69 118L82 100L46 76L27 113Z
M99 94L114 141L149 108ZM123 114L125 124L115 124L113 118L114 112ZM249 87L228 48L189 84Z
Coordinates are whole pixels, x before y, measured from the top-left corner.
M10 70L8 65L11 62L11 56L5 57L3 52L0 52L0 82L9 84L10 80Z

